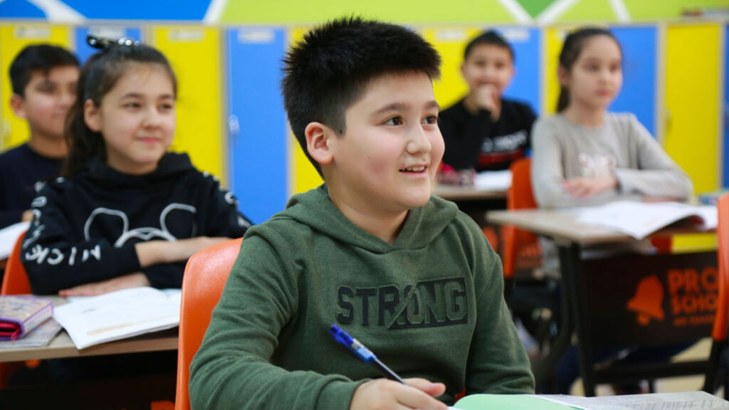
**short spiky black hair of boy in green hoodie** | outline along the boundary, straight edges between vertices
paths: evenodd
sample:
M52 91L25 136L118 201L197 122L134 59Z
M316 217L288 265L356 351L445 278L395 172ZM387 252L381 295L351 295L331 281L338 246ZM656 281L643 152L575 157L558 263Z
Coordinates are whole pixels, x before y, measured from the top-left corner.
M284 58L281 89L289 124L306 158L306 125L317 121L344 134L344 113L367 82L383 74L423 72L440 77L440 55L410 28L338 18L308 31Z

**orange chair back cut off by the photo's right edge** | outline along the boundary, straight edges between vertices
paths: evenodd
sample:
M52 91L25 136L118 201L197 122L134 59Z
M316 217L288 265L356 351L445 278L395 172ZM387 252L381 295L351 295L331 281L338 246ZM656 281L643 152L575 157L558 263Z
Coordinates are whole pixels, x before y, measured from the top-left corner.
M714 341L725 341L729 324L729 193L719 198L717 212L719 212L719 225L717 225L719 300L712 338Z

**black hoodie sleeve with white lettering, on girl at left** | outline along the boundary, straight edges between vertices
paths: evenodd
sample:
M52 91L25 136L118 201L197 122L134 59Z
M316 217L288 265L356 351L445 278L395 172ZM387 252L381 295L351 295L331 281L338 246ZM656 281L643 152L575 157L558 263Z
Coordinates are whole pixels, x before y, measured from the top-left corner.
M20 252L33 293L50 295L77 285L139 271L134 244L115 248L109 241L74 238L71 201L62 188L47 185L33 201L33 222Z

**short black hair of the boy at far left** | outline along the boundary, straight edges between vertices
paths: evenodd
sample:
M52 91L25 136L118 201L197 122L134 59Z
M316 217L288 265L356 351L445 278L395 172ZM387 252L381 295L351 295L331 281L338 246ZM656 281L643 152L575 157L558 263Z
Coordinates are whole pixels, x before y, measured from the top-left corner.
M25 97L26 86L33 77L33 71L44 73L55 67L79 66L79 60L69 50L56 45L28 45L17 53L10 63L10 84L12 92Z

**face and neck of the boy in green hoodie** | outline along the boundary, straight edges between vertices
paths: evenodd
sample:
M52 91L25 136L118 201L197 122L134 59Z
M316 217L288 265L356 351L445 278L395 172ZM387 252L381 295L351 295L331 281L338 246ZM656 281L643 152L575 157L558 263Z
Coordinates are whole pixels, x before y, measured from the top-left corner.
M322 165L332 201L373 216L426 204L444 150L437 116L427 74L370 80L345 112L344 134L331 139L331 162Z

